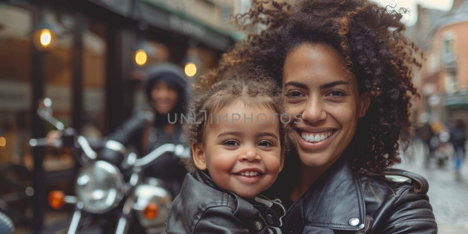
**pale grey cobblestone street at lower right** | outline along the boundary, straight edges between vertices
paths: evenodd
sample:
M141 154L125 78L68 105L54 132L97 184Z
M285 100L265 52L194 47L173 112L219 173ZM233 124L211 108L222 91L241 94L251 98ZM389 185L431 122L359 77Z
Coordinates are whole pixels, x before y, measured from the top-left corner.
M438 168L433 162L426 169L423 165L424 147L420 142L414 143L408 155L413 158L402 157L402 164L395 168L402 168L421 176L429 182L429 198L439 227L439 234L468 233L468 160L462 167L461 182L455 180L453 162L445 168Z

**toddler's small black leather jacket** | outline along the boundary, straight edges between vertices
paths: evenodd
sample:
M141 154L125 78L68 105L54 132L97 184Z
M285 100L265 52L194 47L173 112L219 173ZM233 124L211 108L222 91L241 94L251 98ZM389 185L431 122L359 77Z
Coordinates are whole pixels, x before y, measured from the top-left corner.
M279 227L270 207L220 190L200 170L187 174L166 219L166 234L270 234Z

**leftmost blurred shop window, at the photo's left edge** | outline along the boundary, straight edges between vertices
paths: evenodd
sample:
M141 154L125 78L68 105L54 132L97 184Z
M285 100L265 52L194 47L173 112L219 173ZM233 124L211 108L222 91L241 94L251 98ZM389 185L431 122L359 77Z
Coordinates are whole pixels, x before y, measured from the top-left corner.
M0 164L23 164L31 137L32 13L0 7Z

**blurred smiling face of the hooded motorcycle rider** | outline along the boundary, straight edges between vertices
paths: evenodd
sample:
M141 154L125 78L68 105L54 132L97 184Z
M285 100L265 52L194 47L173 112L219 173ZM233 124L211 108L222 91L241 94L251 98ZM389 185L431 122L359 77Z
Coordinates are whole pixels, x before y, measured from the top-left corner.
M177 97L177 90L162 81L156 82L151 90L153 106L162 115L174 109L177 104Z

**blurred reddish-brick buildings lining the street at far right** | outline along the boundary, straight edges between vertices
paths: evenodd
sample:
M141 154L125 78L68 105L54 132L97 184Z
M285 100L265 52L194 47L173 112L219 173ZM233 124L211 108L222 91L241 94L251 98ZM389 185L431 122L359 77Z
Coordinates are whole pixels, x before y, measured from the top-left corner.
M422 68L414 70L421 94L412 109L415 123L468 119L468 1L455 0L448 12L418 6L407 34L424 53Z

